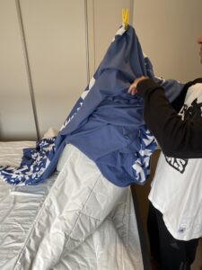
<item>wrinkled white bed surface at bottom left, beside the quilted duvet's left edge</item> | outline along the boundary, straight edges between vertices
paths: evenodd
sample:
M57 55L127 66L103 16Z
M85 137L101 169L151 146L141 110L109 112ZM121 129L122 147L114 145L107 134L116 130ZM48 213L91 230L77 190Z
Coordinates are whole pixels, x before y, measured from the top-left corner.
M36 186L14 186L0 180L0 269L13 269L56 177Z

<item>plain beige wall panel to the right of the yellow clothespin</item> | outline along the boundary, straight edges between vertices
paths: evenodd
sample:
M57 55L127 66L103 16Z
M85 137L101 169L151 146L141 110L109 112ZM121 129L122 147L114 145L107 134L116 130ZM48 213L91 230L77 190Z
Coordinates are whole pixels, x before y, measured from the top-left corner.
M134 0L133 25L156 75L181 81L201 76L201 0Z

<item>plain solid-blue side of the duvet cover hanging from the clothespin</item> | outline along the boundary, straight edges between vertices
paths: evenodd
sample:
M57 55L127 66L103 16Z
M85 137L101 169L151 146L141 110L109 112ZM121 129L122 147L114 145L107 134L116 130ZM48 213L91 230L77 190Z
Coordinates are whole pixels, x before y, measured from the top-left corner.
M149 163L145 164L144 158L156 148L154 138L148 146L143 146L143 138L151 134L143 121L142 98L127 94L129 85L142 75L154 78L153 67L143 55L135 30L128 26L110 44L81 109L61 130L56 142L60 146L61 141L75 145L96 163L110 182L119 186L145 182ZM180 83L155 80L166 88L171 101L180 94ZM139 154L146 147L150 151ZM141 172L133 167L136 161Z

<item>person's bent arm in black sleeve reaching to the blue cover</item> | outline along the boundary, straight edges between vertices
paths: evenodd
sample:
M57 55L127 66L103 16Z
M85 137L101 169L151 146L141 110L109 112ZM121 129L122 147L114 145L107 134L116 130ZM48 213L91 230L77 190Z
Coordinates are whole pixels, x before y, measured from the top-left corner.
M165 97L160 85L151 79L137 84L137 92L145 101L145 122L165 155L171 157L202 157L202 120L182 121Z

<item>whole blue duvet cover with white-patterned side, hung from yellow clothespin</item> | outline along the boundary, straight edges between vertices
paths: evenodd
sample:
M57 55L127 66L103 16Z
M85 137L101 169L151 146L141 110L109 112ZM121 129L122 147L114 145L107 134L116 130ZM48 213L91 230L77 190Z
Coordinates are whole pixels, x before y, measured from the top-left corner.
M122 26L57 138L40 139L36 148L24 149L21 166L1 166L1 178L9 184L39 184L56 169L66 143L72 143L112 183L143 184L157 144L143 121L143 100L127 94L130 83L141 75L154 78L152 65L144 57L134 29L128 25L126 31ZM170 100L183 86L176 81L160 82ZM93 132L89 134L89 130ZM121 183L124 178L127 182Z

